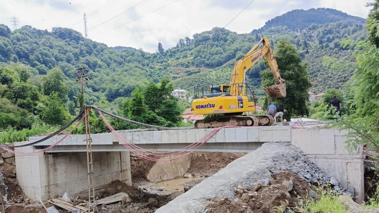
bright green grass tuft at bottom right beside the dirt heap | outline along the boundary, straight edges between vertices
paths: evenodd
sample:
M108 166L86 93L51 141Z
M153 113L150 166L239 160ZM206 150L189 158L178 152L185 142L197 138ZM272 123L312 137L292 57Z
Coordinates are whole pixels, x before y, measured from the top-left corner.
M337 198L332 190L325 190L323 187L314 187L316 193L314 197L298 197L299 204L294 208L296 212L301 213L348 213L348 208Z

